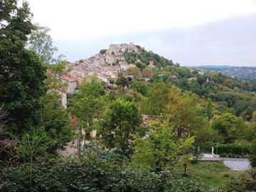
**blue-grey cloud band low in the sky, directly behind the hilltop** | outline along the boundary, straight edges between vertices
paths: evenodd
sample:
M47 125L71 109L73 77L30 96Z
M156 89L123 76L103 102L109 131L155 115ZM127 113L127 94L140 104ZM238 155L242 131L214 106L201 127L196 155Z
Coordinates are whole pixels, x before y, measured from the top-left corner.
M105 35L55 43L68 60L89 58L112 43L136 43L181 65L256 65L256 14L191 28Z

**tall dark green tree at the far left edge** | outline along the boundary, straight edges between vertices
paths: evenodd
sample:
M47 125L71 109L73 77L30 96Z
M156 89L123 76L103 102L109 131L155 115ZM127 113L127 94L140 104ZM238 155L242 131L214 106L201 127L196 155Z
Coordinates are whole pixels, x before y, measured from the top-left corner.
M38 56L26 50L31 23L28 3L18 8L17 1L0 4L0 102L9 112L6 127L15 134L38 122L39 97L45 94L46 68Z

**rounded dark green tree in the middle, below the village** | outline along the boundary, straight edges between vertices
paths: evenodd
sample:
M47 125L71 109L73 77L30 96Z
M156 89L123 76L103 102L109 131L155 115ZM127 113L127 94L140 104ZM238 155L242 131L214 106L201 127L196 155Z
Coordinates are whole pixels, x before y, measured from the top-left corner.
M116 100L102 119L102 142L107 149L129 156L132 154L134 132L142 122L134 102Z

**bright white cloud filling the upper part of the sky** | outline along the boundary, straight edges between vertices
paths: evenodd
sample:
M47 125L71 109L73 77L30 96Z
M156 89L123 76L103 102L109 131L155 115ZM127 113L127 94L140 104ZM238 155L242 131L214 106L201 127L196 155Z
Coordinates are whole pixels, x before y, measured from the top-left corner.
M140 31L189 28L256 13L251 0L28 0L34 21L53 38L92 38Z

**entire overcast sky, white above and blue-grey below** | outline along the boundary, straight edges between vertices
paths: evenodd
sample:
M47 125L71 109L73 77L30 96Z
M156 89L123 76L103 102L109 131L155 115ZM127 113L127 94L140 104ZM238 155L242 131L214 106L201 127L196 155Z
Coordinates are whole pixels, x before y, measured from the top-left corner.
M28 0L70 62L135 43L181 65L256 66L256 0Z

